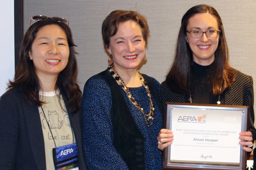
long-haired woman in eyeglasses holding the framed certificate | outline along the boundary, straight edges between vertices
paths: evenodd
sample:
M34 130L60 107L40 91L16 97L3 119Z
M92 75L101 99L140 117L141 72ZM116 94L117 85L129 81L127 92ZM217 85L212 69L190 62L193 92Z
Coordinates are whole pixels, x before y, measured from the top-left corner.
M181 20L171 70L161 84L165 102L250 106L249 131L241 132L243 149L251 152L255 139L252 77L229 66L228 46L221 18L208 5L190 8ZM175 134L174 134L175 136ZM161 129L158 148L175 140L171 130Z

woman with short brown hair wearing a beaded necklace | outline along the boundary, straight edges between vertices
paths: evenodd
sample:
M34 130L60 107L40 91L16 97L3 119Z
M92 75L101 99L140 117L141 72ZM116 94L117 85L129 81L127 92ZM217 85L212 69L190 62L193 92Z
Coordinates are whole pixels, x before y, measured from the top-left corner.
M146 58L147 20L113 11L102 24L113 64L84 85L83 144L90 170L160 170L157 135L163 125L160 84L137 68Z

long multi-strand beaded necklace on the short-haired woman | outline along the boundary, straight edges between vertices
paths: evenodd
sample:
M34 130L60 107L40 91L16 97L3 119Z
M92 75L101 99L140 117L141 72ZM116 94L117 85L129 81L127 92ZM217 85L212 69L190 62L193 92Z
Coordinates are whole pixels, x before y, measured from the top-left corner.
M150 91L148 89L147 82L145 81L145 79L143 78L143 76L141 75L139 70L136 70L136 73L138 74L142 85L145 87L145 89L147 91L147 94L148 94L149 101L150 101L149 113L148 114L146 114L144 112L143 108L141 107L141 105L135 101L134 97L132 96L132 93L129 91L129 87L127 87L125 85L124 80L117 73L117 71L114 67L114 64L111 64L111 65L108 66L108 71L115 78L115 80L118 81L121 84L124 92L127 94L128 98L129 98L129 100L132 102L132 104L134 106L136 106L141 111L141 113L144 116L144 119L146 121L147 126L150 127L153 123L153 120L154 120L155 108L154 108L154 104L153 104L152 99L151 99L151 94L150 94Z

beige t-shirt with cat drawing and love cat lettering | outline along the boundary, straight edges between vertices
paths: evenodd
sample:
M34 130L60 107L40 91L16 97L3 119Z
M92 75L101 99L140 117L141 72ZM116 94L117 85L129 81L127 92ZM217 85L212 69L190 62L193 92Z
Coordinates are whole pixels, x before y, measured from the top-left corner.
M42 107L38 107L38 109L44 135L47 170L54 169L52 148L76 143L64 100L62 96L60 96L59 101L58 93L59 91L39 92L40 100L45 102L45 104L43 104Z

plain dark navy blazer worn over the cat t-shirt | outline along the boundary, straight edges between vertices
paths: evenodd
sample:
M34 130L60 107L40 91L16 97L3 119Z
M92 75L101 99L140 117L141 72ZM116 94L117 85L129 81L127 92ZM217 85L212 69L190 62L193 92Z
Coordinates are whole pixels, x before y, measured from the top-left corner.
M70 109L67 107L76 137L79 169L84 170L86 168L79 122L81 114L70 114ZM28 104L19 90L7 92L0 98L0 169L46 170L44 137L38 107Z

